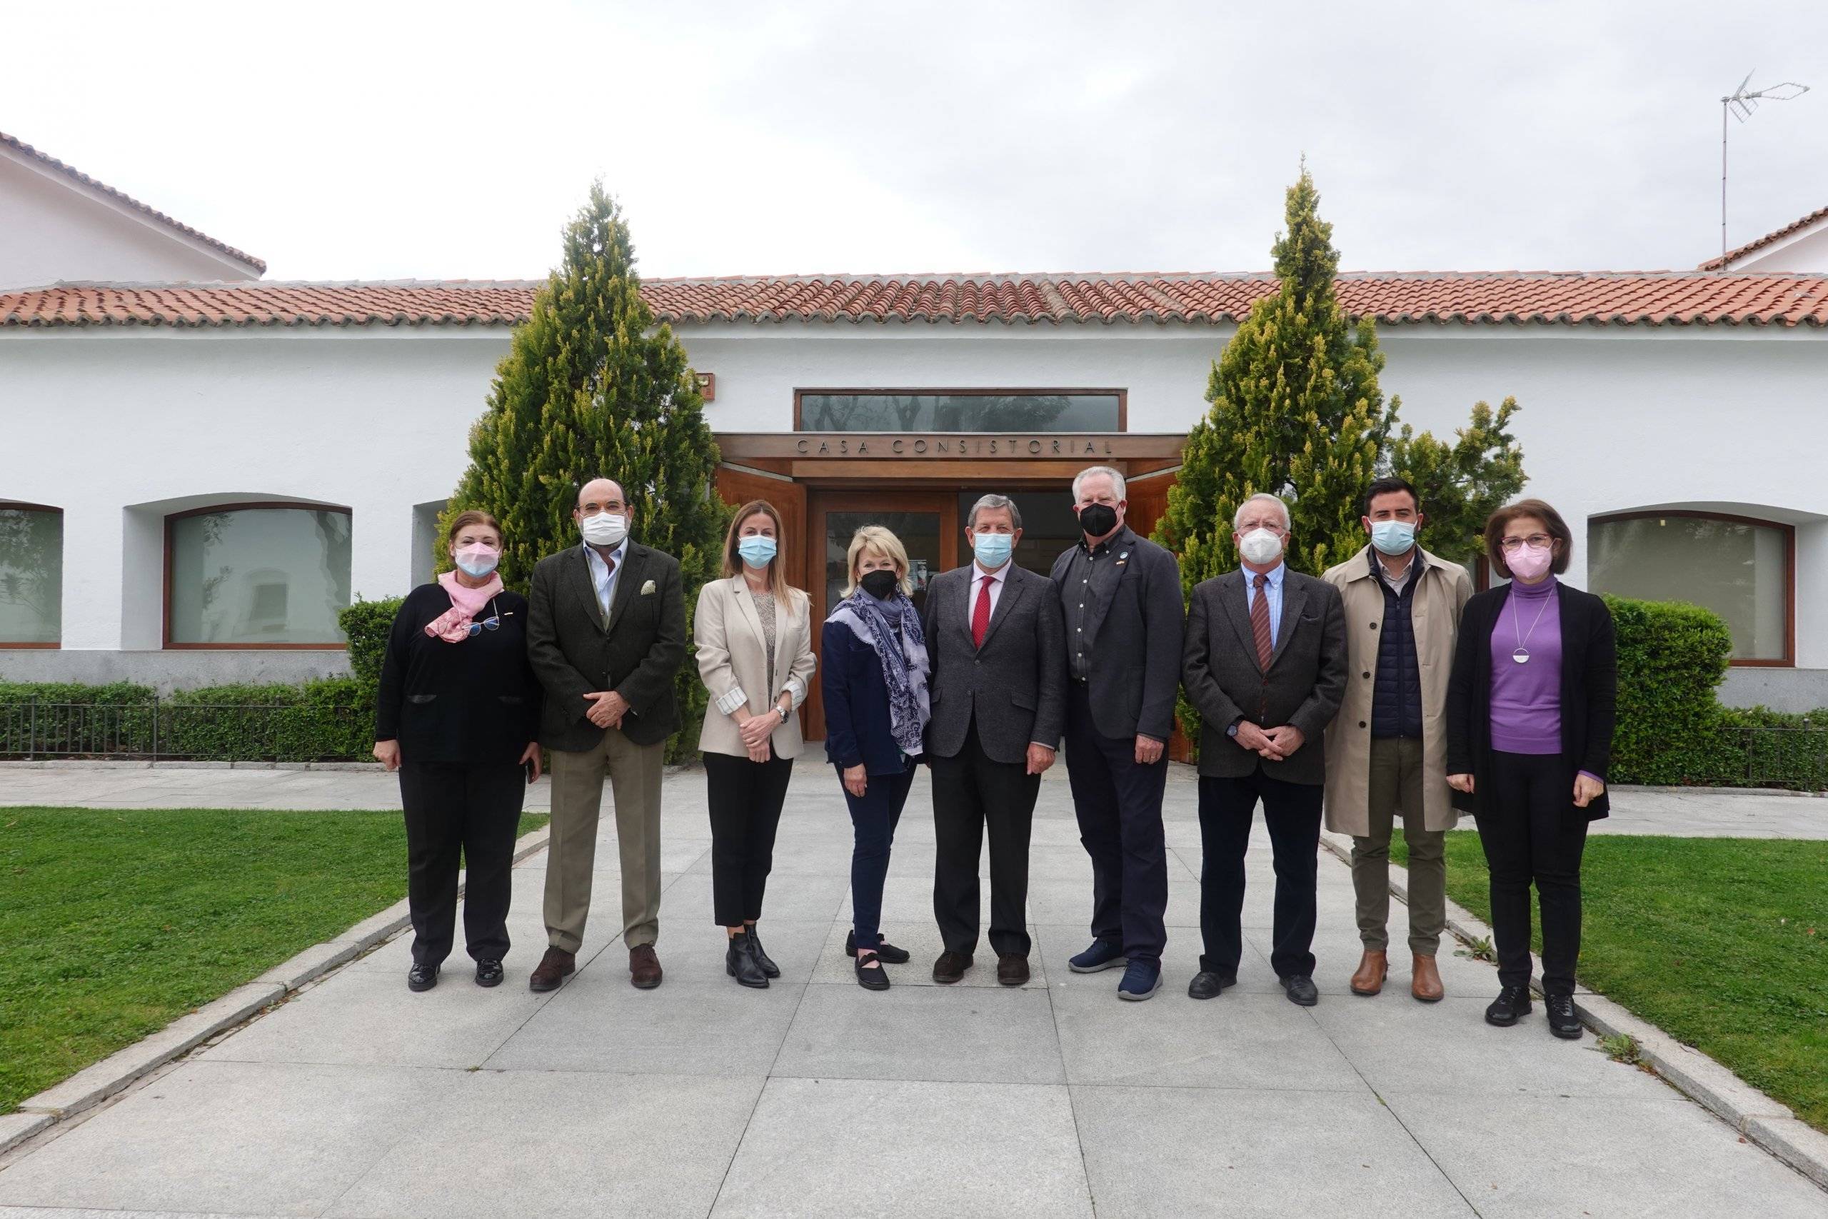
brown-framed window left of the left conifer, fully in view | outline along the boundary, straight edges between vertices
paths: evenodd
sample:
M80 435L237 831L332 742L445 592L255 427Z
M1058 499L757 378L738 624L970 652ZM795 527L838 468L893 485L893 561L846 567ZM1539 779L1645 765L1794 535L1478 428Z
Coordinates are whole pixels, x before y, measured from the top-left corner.
M166 643L342 647L349 514L210 508L166 519Z

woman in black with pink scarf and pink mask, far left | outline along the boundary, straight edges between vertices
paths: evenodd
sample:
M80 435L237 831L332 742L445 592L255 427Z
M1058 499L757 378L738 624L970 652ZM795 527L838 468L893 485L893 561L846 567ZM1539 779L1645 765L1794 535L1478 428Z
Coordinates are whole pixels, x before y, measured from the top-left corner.
M400 771L406 808L409 991L439 985L450 956L459 852L475 983L501 985L514 839L526 784L539 779L539 682L526 663L526 598L495 574L501 526L461 512L444 543L457 568L406 596L375 698L375 758Z

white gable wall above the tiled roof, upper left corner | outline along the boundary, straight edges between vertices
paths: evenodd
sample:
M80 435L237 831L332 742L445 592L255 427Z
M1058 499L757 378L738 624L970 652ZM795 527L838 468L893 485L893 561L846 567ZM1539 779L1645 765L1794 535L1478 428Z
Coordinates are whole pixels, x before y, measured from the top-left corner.
M250 278L221 250L0 146L0 291Z

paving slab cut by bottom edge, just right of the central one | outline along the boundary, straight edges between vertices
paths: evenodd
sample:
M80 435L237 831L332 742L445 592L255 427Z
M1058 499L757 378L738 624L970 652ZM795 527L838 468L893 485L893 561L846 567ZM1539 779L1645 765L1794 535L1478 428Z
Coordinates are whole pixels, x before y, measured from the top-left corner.
M1073 1113L1102 1219L1477 1214L1371 1093L1075 1084Z

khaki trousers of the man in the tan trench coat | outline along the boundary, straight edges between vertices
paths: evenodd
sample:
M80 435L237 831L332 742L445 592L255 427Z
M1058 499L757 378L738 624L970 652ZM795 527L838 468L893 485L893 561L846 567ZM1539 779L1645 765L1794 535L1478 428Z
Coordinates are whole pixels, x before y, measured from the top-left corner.
M1389 833L1402 813L1409 846L1409 952L1435 956L1448 925L1446 833L1426 830L1422 815L1422 740L1371 738L1371 833L1353 837L1353 892L1358 897L1358 939L1371 952L1389 950Z

